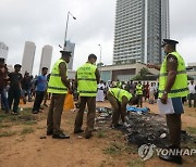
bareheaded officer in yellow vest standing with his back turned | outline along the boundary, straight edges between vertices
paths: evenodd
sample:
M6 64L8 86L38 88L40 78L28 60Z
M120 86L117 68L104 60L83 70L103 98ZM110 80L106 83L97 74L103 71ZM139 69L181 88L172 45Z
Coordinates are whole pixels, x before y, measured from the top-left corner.
M81 98L79 111L75 118L74 133L83 132L83 115L86 107L88 106L87 113L87 127L85 129L85 138L91 137L94 130L95 115L96 115L96 94L97 84L100 81L100 74L95 65L97 56L95 54L88 55L88 61L81 66L75 76L75 84Z

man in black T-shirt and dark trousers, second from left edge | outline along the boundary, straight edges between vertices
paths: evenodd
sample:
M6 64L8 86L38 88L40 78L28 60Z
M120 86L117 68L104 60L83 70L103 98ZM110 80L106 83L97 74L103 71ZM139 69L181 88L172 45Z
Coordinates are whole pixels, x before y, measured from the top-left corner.
M19 103L20 103L20 98L22 94L22 86L21 81L23 79L21 72L22 65L15 64L14 65L14 72L10 73L8 76L10 77L10 89L9 89L9 105L10 108L12 108L12 103L13 103L13 112L12 114L19 114ZM14 102L13 102L14 101Z

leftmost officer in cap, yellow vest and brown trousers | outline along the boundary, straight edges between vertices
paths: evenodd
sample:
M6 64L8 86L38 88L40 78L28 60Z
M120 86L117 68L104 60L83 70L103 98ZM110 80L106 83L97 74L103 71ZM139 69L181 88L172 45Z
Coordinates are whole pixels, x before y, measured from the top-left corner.
M68 90L72 91L70 81L68 80L66 67L66 64L70 62L71 52L60 52L62 56L54 63L48 82L48 92L52 93L52 98L47 118L47 136L52 134L52 138L54 139L69 139L70 136L64 134L60 130L60 125L65 94L68 93Z

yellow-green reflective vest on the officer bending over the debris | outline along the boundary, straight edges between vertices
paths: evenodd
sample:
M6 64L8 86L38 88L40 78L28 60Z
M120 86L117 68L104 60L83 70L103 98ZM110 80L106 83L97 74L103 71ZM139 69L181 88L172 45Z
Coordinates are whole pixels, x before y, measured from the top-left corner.
M124 89L110 88L109 92L121 103L123 97L126 97L128 101L132 99L132 94Z

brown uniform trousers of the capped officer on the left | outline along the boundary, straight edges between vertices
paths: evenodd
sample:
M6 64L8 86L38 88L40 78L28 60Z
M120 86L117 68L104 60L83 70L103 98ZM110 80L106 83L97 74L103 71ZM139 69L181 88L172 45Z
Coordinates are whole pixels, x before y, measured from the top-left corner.
M47 118L47 131L53 131L53 134L59 134L62 132L60 130L60 126L64 99L65 94L52 93Z

